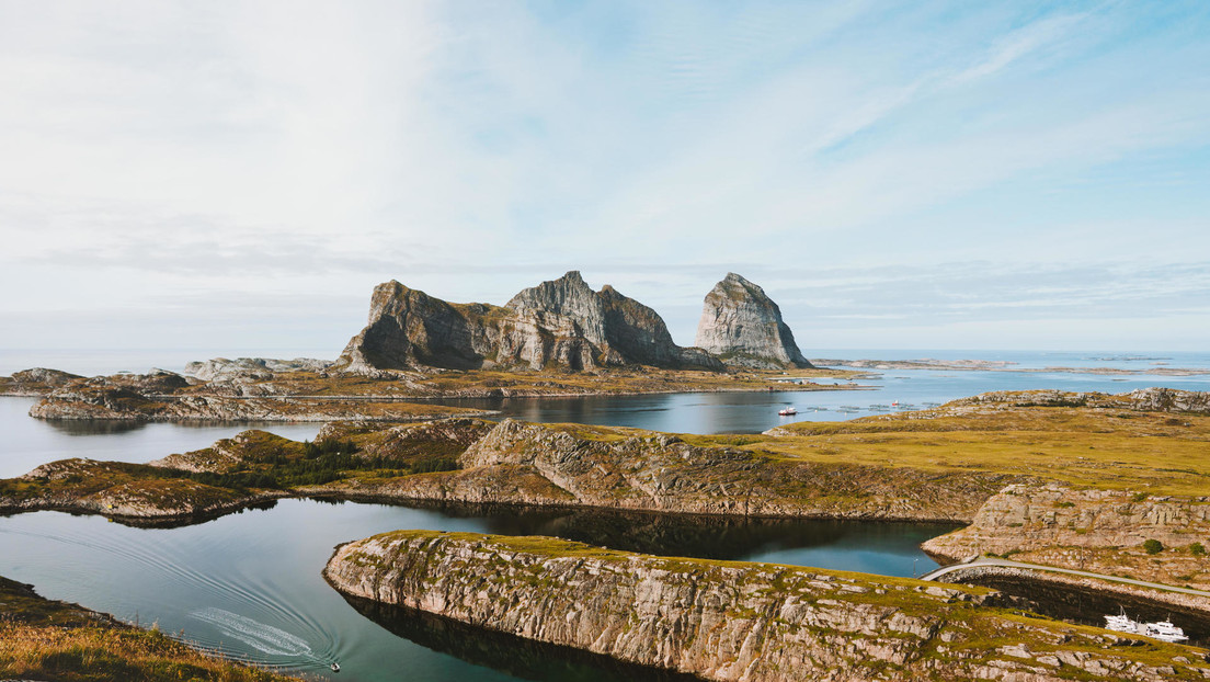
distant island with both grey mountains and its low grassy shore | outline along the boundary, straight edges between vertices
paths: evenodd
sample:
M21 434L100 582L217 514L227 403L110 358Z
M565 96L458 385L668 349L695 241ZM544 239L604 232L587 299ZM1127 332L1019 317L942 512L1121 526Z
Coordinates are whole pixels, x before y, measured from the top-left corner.
M0 377L0 394L44 396L30 411L44 419L330 422L483 414L416 399L786 390L773 380L786 377L806 382L794 390L854 388L812 385L851 372L813 368L777 304L738 275L728 282L742 285L725 302L707 297L728 322L703 315L699 331L726 344L722 356L676 345L655 310L570 271L503 306L379 285L365 328L333 362L219 357L184 374L93 378L39 368Z

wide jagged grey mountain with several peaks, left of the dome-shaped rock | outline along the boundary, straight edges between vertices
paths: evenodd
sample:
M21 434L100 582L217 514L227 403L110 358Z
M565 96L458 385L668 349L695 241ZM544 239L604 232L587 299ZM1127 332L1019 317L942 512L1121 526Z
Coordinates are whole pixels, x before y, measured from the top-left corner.
M673 343L655 310L610 286L593 291L575 270L522 291L502 308L446 303L396 281L379 285L368 325L348 342L335 369L626 365L722 369L709 354Z

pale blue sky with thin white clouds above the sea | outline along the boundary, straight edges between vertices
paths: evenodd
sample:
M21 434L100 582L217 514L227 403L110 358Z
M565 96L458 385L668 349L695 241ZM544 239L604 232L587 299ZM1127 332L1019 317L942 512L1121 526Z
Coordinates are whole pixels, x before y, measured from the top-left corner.
M335 357L582 271L693 342L1210 348L1210 4L0 0L0 349Z

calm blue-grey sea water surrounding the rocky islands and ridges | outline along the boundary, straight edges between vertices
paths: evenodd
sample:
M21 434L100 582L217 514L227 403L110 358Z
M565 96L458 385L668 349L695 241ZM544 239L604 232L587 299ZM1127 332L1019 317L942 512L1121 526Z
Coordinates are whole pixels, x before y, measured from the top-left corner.
M841 356L819 351L822 356ZM1026 367L1120 366L1152 362L1208 367L1192 354L953 354L862 351L849 357L980 357L1020 360ZM1170 360L1157 360L1169 357ZM96 357L93 369L115 371ZM123 362L126 362L123 360ZM1084 365L1081 365L1081 363ZM126 362L134 371L140 365ZM52 362L28 362L51 365ZM81 361L81 365L87 362ZM149 363L150 366L150 363ZM21 368L21 367L16 367ZM7 372L11 372L8 368ZM5 373L7 373L5 372ZM676 432L753 432L796 419L843 419L882 413L898 401L917 407L986 390L1058 388L1122 392L1168 385L1210 390L1210 377L1113 377L1066 373L887 371L877 386L848 392L701 394L615 399L472 402L535 422L582 422ZM25 415L33 400L0 399L0 476L44 462L90 457L148 462L208 446L249 424L98 426L54 424ZM841 411L842 406L855 409ZM819 408L819 412L814 412ZM318 425L260 425L311 439ZM203 525L131 528L99 517L59 512L0 517L0 574L40 592L126 619L159 623L229 655L319 675L341 663L340 680L639 680L649 672L617 667L574 652L494 636L422 614L350 602L319 571L338 543L397 528L547 534L664 555L774 561L911 575L934 564L917 548L949 527L825 521L727 521L589 511L483 508L404 508L283 500Z

